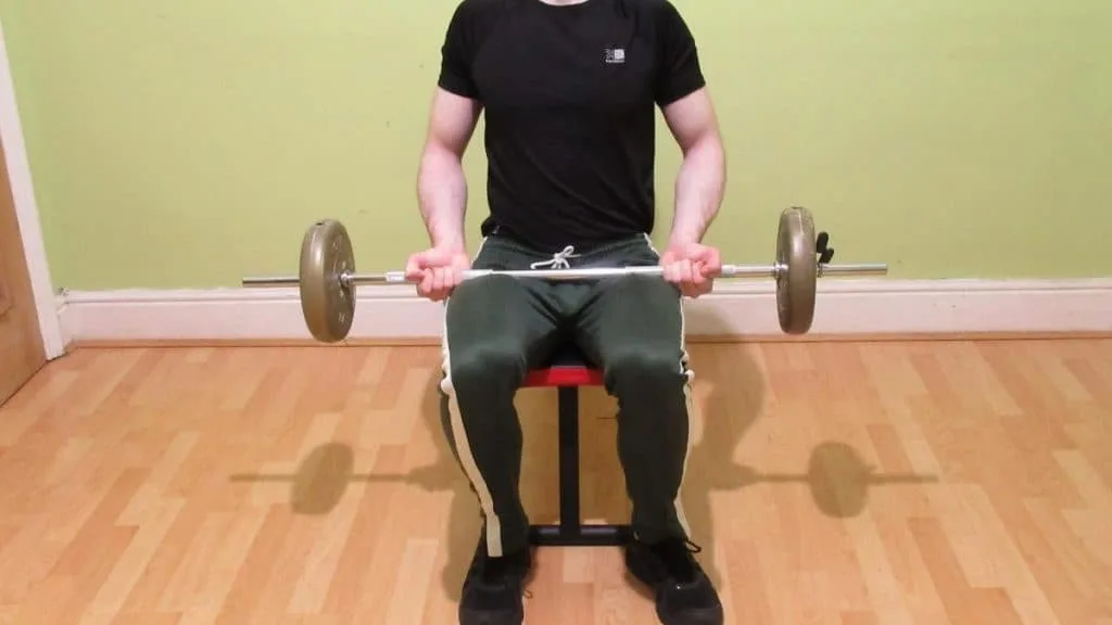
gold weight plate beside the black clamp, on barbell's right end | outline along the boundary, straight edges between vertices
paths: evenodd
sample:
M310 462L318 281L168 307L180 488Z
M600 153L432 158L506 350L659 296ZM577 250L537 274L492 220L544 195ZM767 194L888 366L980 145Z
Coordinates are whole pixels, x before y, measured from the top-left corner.
M815 220L805 208L792 207L780 215L776 232L776 308L780 327L802 335L815 316L818 260L815 256Z

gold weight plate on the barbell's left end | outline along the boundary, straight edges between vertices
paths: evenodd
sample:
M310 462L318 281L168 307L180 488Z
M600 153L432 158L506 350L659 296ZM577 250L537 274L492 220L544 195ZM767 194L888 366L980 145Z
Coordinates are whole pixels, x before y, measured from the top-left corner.
M347 229L327 219L314 224L301 240L301 314L321 343L347 337L355 318L355 285L340 276L355 272L355 251Z

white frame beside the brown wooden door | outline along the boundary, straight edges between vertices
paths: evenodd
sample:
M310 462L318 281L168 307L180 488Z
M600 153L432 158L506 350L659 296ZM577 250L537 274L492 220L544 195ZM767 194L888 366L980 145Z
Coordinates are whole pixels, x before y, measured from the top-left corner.
M39 208L34 201L31 167L27 159L23 127L20 125L19 107L16 103L16 87L8 62L8 46L2 22L0 22L0 141L3 142L8 183L11 186L12 201L16 205L16 218L19 219L27 270L31 275L31 291L34 294L34 310L39 318L42 347L46 349L47 359L52 360L66 354L66 340L58 318L58 301L50 279Z

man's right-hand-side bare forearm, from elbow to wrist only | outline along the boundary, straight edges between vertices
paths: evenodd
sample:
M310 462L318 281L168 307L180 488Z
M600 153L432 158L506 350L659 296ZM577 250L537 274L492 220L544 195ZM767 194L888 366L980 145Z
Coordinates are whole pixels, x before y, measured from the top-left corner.
M669 244L697 244L718 215L726 186L726 155L717 133L707 135L684 155L676 178L676 211Z

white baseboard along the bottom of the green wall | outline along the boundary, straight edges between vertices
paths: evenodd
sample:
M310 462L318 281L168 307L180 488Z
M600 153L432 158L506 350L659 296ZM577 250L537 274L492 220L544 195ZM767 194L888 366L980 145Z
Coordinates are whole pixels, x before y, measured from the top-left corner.
M725 282L687 304L699 336L781 336L771 281ZM444 307L410 287L359 290L353 341L436 340ZM67 343L308 340L294 289L77 291L61 298ZM820 282L812 336L1112 333L1112 278Z

